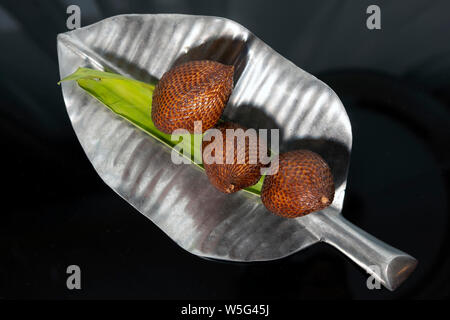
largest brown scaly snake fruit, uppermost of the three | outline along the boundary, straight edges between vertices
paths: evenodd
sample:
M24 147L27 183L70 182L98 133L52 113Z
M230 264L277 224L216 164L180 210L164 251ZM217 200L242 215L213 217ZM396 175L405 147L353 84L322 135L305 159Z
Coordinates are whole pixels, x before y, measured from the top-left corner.
M202 132L214 127L233 89L234 67L215 61L190 61L166 72L155 87L152 120L160 131L194 132L194 121L202 121Z

